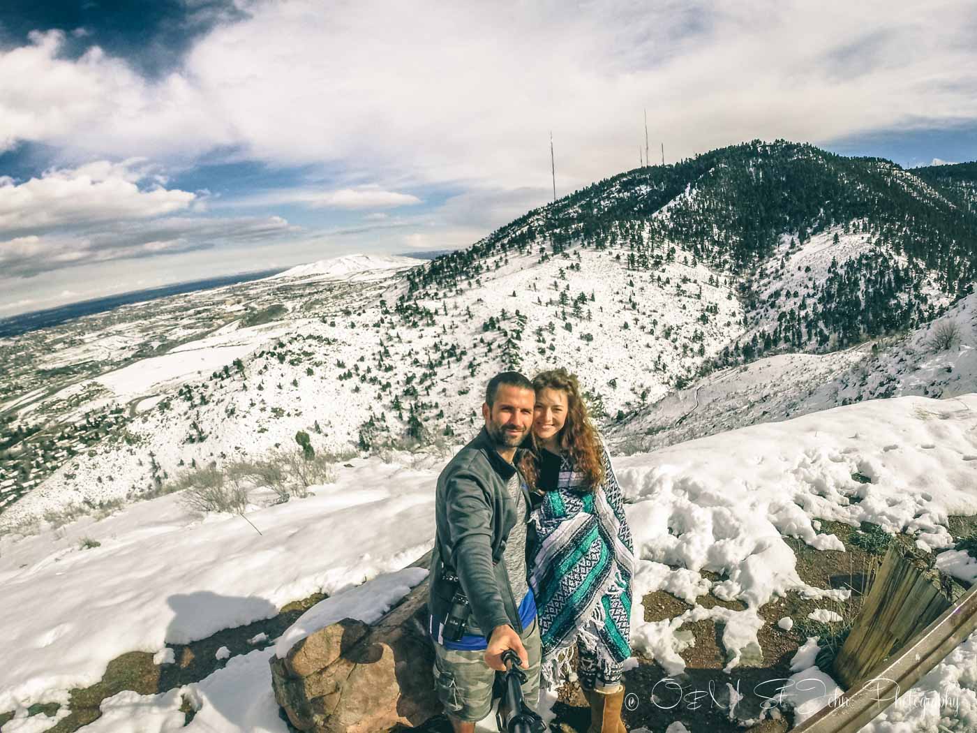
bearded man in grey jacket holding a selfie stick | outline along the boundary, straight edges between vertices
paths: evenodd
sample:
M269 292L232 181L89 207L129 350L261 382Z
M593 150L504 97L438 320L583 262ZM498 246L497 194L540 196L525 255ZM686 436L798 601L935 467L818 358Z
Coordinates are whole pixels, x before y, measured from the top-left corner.
M539 695L539 628L526 570L530 496L514 465L534 402L532 384L519 372L492 377L485 427L438 477L428 608L435 683L455 733L471 733L488 715L506 649L522 662L527 704L535 707ZM467 607L458 603L459 590ZM467 612L458 640L448 638L450 625L446 634L452 605Z

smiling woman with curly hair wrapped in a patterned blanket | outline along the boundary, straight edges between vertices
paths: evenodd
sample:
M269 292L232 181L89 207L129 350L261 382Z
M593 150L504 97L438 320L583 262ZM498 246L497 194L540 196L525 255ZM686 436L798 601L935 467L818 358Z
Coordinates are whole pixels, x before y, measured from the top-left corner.
M587 416L576 377L537 374L532 437L521 468L535 490L530 584L543 676L569 673L576 648L590 703L588 733L623 733L621 664L629 643L634 555L611 459Z

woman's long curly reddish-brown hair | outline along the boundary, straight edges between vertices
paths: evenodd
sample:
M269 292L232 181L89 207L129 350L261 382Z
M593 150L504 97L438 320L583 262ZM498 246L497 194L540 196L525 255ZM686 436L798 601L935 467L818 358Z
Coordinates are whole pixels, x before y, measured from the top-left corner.
M590 421L586 403L580 396L576 376L565 368L541 371L532 379L532 388L539 394L544 389L555 389L567 395L567 419L560 431L560 448L570 454L573 470L586 476L586 487L593 491L604 483L604 451L597 438L597 431ZM531 488L539 478L539 451L534 438L523 454L520 468Z

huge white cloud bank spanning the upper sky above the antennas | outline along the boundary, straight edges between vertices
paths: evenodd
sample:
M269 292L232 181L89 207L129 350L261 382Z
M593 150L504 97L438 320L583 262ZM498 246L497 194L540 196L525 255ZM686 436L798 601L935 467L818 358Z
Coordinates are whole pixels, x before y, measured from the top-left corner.
M963 0L255 2L150 82L62 36L0 54L0 140L182 159L215 146L338 164L351 188L557 189L755 137L813 142L977 118ZM653 155L657 159L658 155ZM544 199L543 199L544 200Z

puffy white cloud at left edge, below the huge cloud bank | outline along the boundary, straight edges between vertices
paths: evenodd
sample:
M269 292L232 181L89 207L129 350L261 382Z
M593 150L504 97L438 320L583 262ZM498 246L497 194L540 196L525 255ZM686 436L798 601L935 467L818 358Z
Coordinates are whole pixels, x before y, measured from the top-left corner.
M158 185L140 189L145 161L87 163L16 184L0 180L0 234L146 219L187 208L194 194Z

